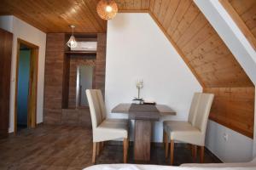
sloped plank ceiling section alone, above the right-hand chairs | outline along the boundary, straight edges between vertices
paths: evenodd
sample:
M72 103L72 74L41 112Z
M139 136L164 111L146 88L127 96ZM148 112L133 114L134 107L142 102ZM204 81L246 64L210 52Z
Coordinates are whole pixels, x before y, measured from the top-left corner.
M152 0L150 11L203 87L253 86L192 0Z

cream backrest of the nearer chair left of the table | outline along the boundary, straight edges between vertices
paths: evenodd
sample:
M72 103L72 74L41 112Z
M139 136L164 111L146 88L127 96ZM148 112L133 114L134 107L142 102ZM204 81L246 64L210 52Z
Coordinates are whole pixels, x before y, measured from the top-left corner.
M86 92L88 104L90 107L91 125L92 125L92 128L94 129L98 127L98 125L101 124L102 122L102 111L101 111L102 109L98 101L97 90L87 89L85 92Z

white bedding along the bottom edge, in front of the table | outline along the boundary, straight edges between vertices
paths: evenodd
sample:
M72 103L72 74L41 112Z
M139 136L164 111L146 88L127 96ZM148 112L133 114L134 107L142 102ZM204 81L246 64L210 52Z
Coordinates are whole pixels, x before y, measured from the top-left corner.
M173 167L158 165L102 164L84 170L256 170L256 167Z

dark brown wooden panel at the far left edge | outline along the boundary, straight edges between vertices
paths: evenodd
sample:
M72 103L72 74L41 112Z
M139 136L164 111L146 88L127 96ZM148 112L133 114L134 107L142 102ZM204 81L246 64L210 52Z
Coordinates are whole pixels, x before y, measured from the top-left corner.
M0 28L0 138L8 136L13 34Z

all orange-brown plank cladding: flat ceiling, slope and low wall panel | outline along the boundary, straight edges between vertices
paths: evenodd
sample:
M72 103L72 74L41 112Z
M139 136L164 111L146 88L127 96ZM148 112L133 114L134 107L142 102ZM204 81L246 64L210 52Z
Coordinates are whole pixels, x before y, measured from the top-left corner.
M253 138L253 82L192 0L116 2L121 12L148 12L153 17L204 91L215 94L210 115L213 121ZM254 32L247 13L255 10L243 7L240 0L233 2ZM68 32L70 24L77 26L77 32L106 32L107 23L97 16L96 3L97 0L3 0L0 14L15 14L46 32Z

